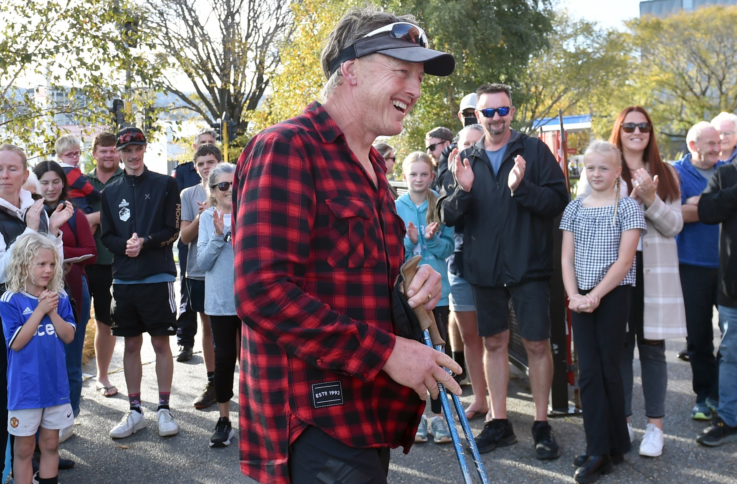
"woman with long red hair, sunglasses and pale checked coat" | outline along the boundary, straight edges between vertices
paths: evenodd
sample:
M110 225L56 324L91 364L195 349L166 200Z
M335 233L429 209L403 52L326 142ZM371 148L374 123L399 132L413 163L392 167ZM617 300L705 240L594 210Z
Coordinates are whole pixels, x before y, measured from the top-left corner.
M680 182L676 170L660 158L652 119L640 106L630 106L619 113L609 142L622 152L622 178L627 193L640 203L647 222L647 231L643 231L638 245L637 282L621 362L627 426L630 440L634 441L629 415L636 341L648 418L640 455L658 457L663 453L668 386L665 340L686 336L675 240L683 228Z

